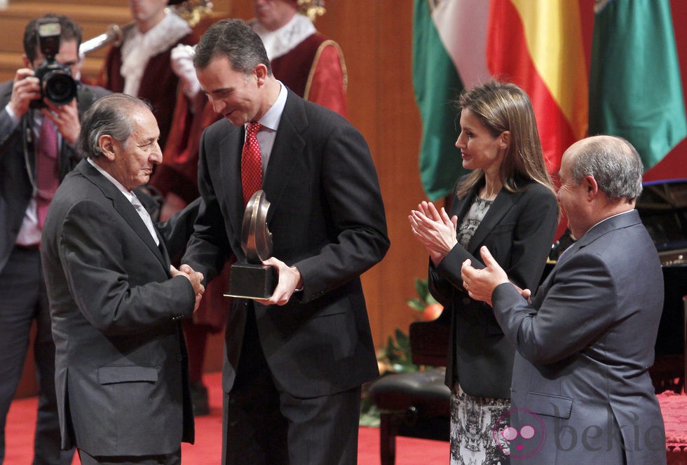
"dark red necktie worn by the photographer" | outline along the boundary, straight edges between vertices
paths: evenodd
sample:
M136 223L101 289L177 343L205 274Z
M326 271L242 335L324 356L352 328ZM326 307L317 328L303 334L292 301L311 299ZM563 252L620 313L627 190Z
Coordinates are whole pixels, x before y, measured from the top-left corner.
M50 200L60 184L57 167L57 131L49 118L43 119L36 150L36 203L41 228L46 221Z

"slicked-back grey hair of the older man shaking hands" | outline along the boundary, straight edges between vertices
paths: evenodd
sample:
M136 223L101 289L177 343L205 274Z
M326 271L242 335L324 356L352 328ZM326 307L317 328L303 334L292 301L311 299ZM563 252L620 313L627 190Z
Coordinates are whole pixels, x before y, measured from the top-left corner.
M126 94L111 94L97 99L81 121L81 133L76 143L81 155L88 158L102 156L98 139L104 135L126 144L134 132L131 111L137 106L151 109L148 102Z

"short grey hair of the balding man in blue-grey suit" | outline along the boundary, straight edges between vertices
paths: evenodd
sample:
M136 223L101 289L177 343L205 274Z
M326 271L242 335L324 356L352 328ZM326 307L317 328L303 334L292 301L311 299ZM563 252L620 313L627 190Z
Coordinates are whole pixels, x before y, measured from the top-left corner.
M571 176L580 183L592 176L609 200L633 202L641 194L644 166L637 149L622 137L594 136L584 139L571 159Z

